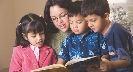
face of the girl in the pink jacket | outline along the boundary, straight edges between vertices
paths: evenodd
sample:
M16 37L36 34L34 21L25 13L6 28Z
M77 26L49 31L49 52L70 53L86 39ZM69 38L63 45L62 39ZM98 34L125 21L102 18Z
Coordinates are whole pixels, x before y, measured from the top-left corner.
M36 34L34 34L33 32L29 32L25 39L28 40L32 45L41 47L45 39L44 31Z

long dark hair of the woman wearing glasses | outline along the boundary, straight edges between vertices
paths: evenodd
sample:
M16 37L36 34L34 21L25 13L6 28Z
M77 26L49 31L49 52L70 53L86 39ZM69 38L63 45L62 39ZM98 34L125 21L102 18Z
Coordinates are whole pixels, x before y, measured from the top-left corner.
M48 26L49 33L56 33L58 29L54 26L52 19L50 17L50 7L58 5L61 8L68 9L72 0L47 0L44 9L44 20Z

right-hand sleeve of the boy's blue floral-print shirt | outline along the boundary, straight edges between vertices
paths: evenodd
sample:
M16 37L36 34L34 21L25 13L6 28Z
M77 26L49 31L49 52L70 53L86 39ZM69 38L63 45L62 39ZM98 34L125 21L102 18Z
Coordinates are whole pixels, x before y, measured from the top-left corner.
M100 44L100 55L104 55L108 52L108 46L105 42L105 39L103 37L103 35L101 33L98 34L98 40L99 40L99 44Z

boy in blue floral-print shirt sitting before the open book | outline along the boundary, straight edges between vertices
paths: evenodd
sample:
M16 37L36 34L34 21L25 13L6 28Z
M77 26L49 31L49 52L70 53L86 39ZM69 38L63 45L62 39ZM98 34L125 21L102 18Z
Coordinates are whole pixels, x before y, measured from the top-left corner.
M58 64L93 56L107 57L108 53L104 37L94 33L81 15L82 1L73 2L68 9L69 23L72 33L62 42L58 54Z

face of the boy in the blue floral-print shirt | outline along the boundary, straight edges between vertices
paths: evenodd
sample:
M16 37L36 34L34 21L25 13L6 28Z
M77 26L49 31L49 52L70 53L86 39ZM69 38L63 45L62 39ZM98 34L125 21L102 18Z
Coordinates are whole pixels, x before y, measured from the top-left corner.
M70 28L75 34L84 34L88 30L87 22L81 14L69 17Z

